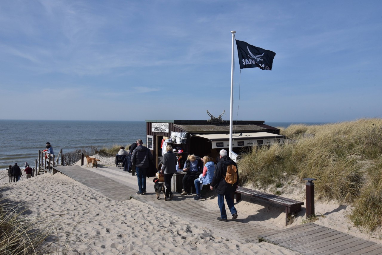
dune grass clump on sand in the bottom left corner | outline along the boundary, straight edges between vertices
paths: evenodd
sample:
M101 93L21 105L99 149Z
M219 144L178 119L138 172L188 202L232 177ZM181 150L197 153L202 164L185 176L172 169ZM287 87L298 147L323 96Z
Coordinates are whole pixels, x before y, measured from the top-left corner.
M78 211L78 215L86 212L87 210ZM83 236L81 231L78 231L82 225L92 221L68 224L63 219L52 218L52 213L59 213L61 217L66 212L57 211L45 216L31 216L29 209L22 204L2 198L0 200L0 254L79 254L78 247L81 244L84 244L92 254L97 253L93 250L94 244L92 244L97 237Z

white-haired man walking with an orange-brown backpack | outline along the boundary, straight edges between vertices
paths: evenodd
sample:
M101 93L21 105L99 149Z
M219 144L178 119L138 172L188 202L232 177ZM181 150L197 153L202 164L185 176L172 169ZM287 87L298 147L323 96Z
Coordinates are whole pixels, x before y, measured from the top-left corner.
M216 164L210 189L213 190L215 187L215 191L217 193L217 203L220 209L220 218L217 218L217 220L228 221L227 213L225 211L224 197L232 214L232 219L237 219L238 213L235 205L233 204L232 194L238 187L239 173L236 162L227 156L227 151L225 149L222 149L219 154L220 160Z

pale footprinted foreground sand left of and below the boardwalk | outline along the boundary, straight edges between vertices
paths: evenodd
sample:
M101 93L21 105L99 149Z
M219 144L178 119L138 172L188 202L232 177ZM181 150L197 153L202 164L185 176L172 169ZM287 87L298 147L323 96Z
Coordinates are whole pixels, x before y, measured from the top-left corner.
M23 176L15 183L6 175L0 171L0 178L6 177L2 197L28 207L26 217L54 219L60 254L298 254L265 242L220 237L134 199L112 201L60 173Z

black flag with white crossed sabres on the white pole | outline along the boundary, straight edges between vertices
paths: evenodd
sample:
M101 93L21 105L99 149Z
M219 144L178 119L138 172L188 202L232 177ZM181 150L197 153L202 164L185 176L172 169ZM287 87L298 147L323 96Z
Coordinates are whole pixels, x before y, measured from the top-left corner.
M236 40L236 46L238 48L240 69L258 67L262 70L272 70L275 52L238 40Z

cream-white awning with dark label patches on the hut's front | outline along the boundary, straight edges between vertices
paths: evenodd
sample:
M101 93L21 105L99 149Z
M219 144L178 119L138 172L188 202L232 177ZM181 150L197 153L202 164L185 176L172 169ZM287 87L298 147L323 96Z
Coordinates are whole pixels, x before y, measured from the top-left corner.
M228 148L230 134L193 134L201 138L206 138L212 142L212 149ZM273 143L284 143L283 135L275 135L268 132L236 133L232 135L232 147L246 147L257 145L271 145Z

